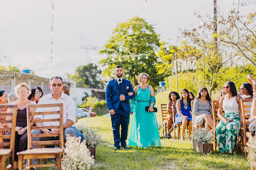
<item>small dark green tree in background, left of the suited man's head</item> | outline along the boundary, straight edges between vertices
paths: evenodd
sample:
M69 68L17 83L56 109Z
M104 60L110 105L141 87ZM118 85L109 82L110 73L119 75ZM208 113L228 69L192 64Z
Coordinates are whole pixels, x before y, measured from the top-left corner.
M77 86L84 86L89 88L104 88L104 81L102 81L101 71L92 63L82 65L76 68L73 78L75 78Z

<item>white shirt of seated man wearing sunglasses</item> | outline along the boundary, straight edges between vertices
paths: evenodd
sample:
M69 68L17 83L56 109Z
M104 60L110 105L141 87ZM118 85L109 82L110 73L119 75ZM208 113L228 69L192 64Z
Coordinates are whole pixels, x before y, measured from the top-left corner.
M52 96L52 93L46 94L45 96L41 97L38 101L38 104L56 104L56 103L63 103L63 124L68 120L76 122L76 108L75 102L73 98L61 92L60 98L57 100ZM36 112L54 112L59 111L59 107L52 107L52 108L37 108ZM41 118L41 119L51 119L51 118L60 118L59 114L36 114L34 118ZM43 122L44 126L58 126L60 122Z

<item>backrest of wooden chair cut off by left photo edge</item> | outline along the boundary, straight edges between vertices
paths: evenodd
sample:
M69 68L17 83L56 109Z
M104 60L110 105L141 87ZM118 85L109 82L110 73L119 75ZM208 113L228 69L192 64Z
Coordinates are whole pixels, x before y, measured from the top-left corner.
M11 110L11 112L10 112ZM8 112L9 111L9 112ZM10 131L10 135L0 135L0 139L10 139L9 142L2 142L0 143L1 147L10 147L13 160L14 160L14 143L15 143L15 126L17 120L17 105L0 105L0 116L2 117L11 117L11 120L0 120L1 124L11 124L11 128L3 128L0 127L1 132Z

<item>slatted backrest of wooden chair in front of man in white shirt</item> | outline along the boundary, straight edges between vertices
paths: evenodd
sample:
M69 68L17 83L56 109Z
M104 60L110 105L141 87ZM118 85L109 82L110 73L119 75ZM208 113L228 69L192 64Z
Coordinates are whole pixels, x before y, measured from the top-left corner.
M37 108L53 108L54 112L41 112ZM59 114L59 118L49 118L49 119L32 119L36 114L40 115L48 115L48 114ZM60 122L57 126L31 126L30 123L34 122ZM27 122L28 122L28 149L32 149L32 145L59 145L60 148L64 145L64 134L63 134L63 104L36 104L36 105L28 105L27 109ZM31 134L31 131L34 129L60 129L59 133L38 133ZM32 137L55 137L59 136L59 140L48 140L48 141L32 141Z

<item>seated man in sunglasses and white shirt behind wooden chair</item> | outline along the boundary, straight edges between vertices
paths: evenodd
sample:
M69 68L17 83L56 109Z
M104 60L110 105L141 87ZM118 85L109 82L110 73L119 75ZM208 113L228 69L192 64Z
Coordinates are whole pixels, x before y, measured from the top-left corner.
M62 93L63 89L63 80L59 76L52 77L49 81L49 88L51 89L52 93L46 94L45 96L41 97L38 104L56 104L56 103L63 103L63 128L64 128L64 141L66 140L67 134L70 136L76 137L76 132L71 126L76 122L76 108L75 102L73 98L68 96L67 94ZM49 111L56 111L55 108L47 108L47 112ZM45 112L45 108L37 108L36 112ZM36 114L34 119L48 119L48 118L59 118L58 114ZM60 122L37 122L37 126L58 126ZM59 129L42 129L42 130L33 130L32 134L38 133L59 133ZM51 138L55 140L55 137L47 137L47 140ZM32 141L40 141L44 140L41 137L33 137ZM38 145L33 145L32 148L38 148ZM32 164L37 164L37 160L33 159Z

